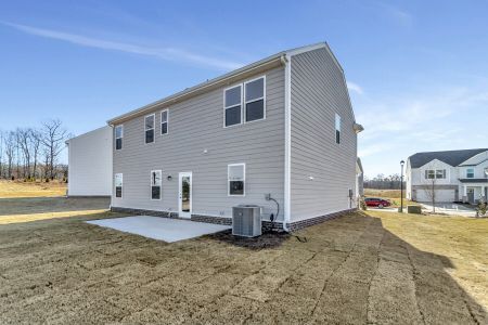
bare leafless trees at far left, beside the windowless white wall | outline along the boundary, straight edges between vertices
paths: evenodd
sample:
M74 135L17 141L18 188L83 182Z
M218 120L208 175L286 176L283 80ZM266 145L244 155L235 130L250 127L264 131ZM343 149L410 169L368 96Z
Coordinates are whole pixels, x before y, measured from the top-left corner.
M69 138L60 119L37 128L0 130L0 179L66 180L67 166L59 158Z

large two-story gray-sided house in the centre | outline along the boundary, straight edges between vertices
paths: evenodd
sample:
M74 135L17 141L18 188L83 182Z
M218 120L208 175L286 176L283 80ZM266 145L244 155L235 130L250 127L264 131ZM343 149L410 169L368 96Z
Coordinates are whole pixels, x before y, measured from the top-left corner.
M356 208L362 127L326 43L280 52L108 125L115 211L230 224L233 206L254 204L264 220L279 213L279 226L297 229Z

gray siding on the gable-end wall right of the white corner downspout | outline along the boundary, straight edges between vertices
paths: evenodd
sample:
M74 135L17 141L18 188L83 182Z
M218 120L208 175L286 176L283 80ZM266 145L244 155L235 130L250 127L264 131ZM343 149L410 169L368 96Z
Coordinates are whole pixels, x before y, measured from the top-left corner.
M292 57L292 221L355 205L348 198L348 190L356 191L355 118L342 72L333 60L325 49ZM341 144L335 142L336 113L342 119Z

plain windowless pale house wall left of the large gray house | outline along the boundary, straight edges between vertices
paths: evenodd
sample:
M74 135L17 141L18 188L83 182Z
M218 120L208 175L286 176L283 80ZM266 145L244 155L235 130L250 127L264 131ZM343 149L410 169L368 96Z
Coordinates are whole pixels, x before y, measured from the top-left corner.
M68 196L112 195L112 134L106 126L66 141Z

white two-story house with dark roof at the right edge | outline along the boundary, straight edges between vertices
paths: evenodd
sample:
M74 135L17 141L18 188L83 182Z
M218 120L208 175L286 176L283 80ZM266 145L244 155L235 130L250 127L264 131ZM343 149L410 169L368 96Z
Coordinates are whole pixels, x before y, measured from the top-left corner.
M488 148L418 153L407 160L407 198L475 204L488 196Z

